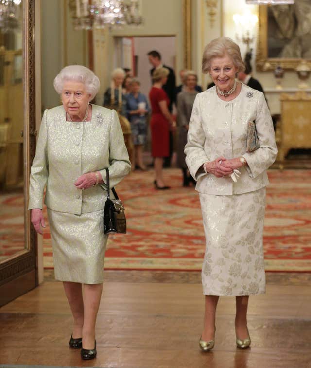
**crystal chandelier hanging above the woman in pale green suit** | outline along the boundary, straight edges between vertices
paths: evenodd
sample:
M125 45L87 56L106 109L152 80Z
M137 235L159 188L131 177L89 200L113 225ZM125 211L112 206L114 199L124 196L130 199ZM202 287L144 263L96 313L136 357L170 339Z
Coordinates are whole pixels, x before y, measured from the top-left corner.
M76 30L142 24L139 0L70 0Z

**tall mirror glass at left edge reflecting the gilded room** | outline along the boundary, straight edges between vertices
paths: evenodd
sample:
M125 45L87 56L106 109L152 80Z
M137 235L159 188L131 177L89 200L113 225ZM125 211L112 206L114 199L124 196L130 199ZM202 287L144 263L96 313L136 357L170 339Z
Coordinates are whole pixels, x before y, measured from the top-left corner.
M26 246L22 5L0 0L0 263Z

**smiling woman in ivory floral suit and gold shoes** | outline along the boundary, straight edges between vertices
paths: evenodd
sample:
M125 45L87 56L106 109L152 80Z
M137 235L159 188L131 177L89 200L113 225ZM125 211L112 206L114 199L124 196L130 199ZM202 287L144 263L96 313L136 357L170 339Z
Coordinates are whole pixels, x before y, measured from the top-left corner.
M236 344L250 345L248 297L265 293L262 246L266 170L277 148L262 92L236 81L244 70L240 48L220 37L205 48L202 70L215 86L194 101L185 147L186 163L197 180L206 236L202 267L205 296L200 347L214 346L219 296L236 296ZM256 123L260 147L246 152L249 122Z

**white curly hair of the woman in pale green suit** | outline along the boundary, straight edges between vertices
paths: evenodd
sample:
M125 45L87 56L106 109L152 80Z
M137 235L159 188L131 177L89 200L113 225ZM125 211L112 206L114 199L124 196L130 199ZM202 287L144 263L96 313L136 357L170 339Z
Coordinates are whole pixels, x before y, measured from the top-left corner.
M69 65L56 75L54 88L58 94L63 92L64 82L66 81L83 83L86 87L86 92L91 95L91 100L96 96L100 87L98 77L83 65Z

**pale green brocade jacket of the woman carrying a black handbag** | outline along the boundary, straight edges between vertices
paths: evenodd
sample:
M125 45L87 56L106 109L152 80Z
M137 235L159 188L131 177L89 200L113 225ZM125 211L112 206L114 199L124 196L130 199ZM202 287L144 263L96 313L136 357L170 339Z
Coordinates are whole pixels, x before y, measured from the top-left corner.
M45 110L31 167L28 209L41 208L44 188L48 208L76 215L104 209L106 192L100 185L86 190L74 182L82 174L99 171L110 187L130 169L122 129L115 110L92 105L91 121L69 122L63 106Z

